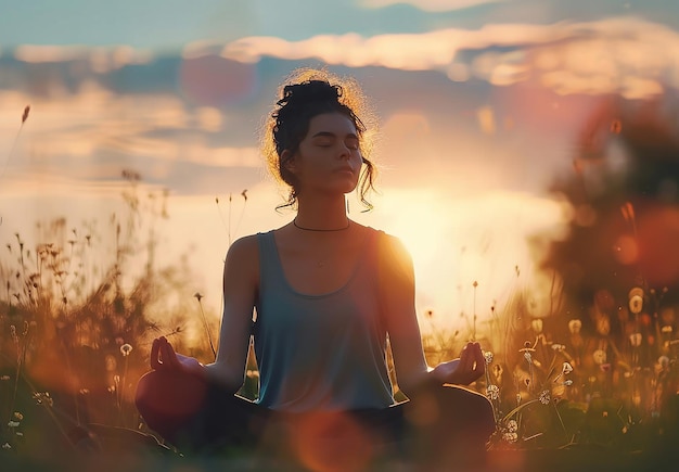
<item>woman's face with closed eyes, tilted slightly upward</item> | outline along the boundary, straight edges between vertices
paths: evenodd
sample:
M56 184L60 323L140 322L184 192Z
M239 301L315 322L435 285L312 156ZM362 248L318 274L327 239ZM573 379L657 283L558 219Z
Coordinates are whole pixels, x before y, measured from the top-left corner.
M324 113L309 122L307 136L289 162L297 193L349 193L356 189L363 158L351 119Z

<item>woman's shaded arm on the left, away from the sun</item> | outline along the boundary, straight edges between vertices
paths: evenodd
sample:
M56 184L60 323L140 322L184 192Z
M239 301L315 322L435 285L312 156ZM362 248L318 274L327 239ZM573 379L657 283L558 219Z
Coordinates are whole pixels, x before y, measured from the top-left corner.
M153 369L181 369L220 384L235 393L243 385L249 347L253 308L259 284L259 250L256 237L235 241L227 254L223 270L223 314L219 348L213 363L177 354L165 337L153 341Z

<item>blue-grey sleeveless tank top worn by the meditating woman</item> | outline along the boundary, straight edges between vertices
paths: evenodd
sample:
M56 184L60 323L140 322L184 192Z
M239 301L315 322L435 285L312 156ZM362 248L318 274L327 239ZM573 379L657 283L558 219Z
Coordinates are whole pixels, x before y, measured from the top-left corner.
M323 295L293 290L273 232L257 235L254 345L260 405L304 412L394 404L377 297L379 233L371 231L347 283Z

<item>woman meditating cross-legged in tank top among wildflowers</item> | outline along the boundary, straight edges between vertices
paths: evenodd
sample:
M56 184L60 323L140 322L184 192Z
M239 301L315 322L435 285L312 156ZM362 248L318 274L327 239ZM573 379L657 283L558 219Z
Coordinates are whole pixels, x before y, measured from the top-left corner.
M459 359L427 367L410 256L396 238L347 216L345 195L355 189L370 206L374 173L366 127L349 105L355 85L305 74L283 88L265 143L270 169L290 187L282 206L296 215L232 244L215 362L203 366L155 340L138 408L180 447L257 444L280 426L293 449L315 441L318 448L328 433L368 447L368 456L389 443L421 455L483 450L492 409L459 386L484 373L481 347L469 343ZM251 334L260 372L256 403L234 395ZM398 387L409 398L397 406L387 339Z

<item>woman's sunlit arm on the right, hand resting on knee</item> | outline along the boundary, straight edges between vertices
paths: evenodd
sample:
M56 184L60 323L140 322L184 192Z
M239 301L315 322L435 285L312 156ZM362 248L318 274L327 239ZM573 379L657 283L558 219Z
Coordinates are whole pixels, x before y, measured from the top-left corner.
M397 381L412 398L428 384L467 385L485 370L481 347L469 343L459 359L443 362L431 370L424 358L422 337L414 308L414 271L412 259L401 242L385 237L380 243L380 297L389 334Z

